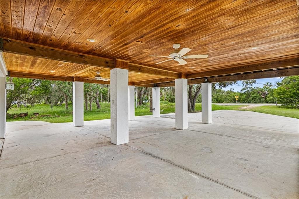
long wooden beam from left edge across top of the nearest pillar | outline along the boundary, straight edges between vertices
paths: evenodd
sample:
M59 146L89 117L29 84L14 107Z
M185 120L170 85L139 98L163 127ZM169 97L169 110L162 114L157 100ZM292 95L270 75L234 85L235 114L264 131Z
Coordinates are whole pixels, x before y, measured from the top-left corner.
M158 75L168 78L179 78L179 73L167 71L163 69L156 69L139 64L129 63L124 60L109 59L97 57L88 54L77 53L73 51L66 51L59 48L51 48L44 45L23 42L20 40L12 40L1 38L1 52L21 54L51 60L58 60L70 63L84 64L89 66L98 66L101 68L113 69L115 66L128 69L130 72L144 73L148 75ZM119 66L126 62L126 65Z

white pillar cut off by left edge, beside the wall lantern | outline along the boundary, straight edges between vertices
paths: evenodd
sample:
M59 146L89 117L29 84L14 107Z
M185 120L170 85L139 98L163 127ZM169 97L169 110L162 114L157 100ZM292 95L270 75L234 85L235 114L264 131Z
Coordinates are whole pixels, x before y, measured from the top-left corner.
M0 70L0 139L6 133L6 74Z

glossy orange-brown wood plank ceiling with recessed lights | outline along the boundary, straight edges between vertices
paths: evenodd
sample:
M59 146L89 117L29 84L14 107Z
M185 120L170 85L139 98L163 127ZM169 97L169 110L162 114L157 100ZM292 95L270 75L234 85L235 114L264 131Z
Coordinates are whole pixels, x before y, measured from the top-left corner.
M296 0L0 1L1 37L192 74L299 57ZM93 38L95 42L88 42ZM191 48L207 59L155 63ZM257 49L252 49L257 47ZM8 70L93 77L109 69L4 53ZM53 70L54 72L50 72ZM161 78L132 73L130 81Z

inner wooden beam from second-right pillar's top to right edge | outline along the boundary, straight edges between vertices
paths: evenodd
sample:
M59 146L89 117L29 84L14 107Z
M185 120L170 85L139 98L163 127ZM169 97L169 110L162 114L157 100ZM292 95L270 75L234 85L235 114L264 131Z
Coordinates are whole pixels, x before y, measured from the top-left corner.
M260 63L260 64L246 65L246 66L234 66L227 69L189 73L187 74L187 79L208 77L213 75L227 75L232 73L250 72L250 71L266 70L266 69L273 69L273 68L278 69L278 68L283 68L288 66L299 66L299 57L280 60L280 61L271 61L271 62Z

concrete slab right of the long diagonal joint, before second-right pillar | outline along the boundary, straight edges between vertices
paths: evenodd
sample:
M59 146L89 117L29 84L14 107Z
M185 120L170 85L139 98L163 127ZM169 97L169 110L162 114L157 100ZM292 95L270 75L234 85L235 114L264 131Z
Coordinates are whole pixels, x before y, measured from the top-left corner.
M129 146L257 198L298 194L293 187L299 188L297 149L191 130L133 140Z

